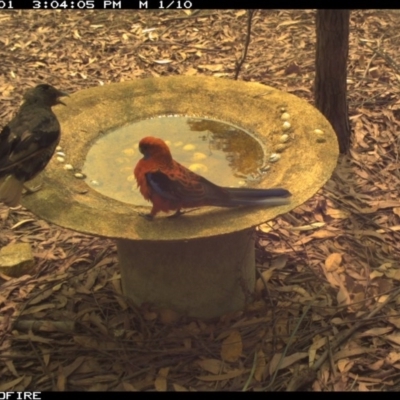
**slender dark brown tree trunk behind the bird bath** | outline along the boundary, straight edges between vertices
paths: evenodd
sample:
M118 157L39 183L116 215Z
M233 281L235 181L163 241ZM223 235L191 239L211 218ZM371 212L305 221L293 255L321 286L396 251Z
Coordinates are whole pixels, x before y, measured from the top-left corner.
M347 57L350 10L317 10L315 105L333 126L341 153L350 147Z

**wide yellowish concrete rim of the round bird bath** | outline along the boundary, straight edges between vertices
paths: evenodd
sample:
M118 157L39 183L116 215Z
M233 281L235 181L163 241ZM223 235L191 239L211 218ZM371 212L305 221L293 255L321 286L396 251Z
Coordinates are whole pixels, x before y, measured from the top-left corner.
M63 164L53 157L41 174L42 189L25 196L22 204L45 220L91 235L176 241L247 230L310 198L329 179L337 161L335 133L315 108L293 95L258 83L204 76L148 78L85 89L65 102L66 107L54 108L62 127L60 145L66 154L65 163L78 171L100 134L159 115L226 121L254 133L271 149L279 146L283 134L282 110L290 113L293 121L287 131L293 143L280 153L278 162L271 162L267 176L255 186L290 190L291 204L280 207L204 207L172 220L160 214L149 222L137 213L148 208L101 195L75 178L74 173L64 170ZM323 132L323 141L316 140L314 130Z

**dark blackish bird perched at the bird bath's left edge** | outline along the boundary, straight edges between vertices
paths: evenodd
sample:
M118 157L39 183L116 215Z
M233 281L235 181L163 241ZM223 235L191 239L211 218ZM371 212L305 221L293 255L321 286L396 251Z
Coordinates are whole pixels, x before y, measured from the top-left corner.
M41 172L60 141L60 123L51 107L67 93L42 84L24 94L17 115L0 132L0 202L15 207L25 182ZM64 104L65 105L65 104Z

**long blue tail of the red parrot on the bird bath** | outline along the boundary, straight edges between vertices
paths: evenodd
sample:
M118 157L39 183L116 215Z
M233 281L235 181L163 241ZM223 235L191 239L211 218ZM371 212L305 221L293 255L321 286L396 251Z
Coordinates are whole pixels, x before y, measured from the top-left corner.
M251 189L251 188L224 188L229 198L218 204L221 207L235 206L281 206L289 204L291 193L282 188ZM216 204L217 205L217 204Z

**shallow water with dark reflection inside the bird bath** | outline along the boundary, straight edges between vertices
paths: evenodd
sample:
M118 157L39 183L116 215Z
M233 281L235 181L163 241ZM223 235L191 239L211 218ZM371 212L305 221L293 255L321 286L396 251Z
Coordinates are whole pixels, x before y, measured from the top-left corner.
M150 205L136 186L133 169L142 158L139 141L163 139L173 158L221 186L247 186L265 165L262 144L243 129L221 121L165 116L138 121L108 132L93 144L83 168L96 191L135 205Z

